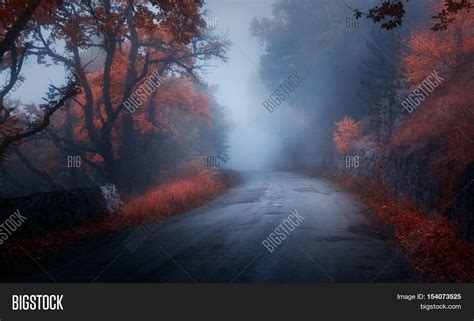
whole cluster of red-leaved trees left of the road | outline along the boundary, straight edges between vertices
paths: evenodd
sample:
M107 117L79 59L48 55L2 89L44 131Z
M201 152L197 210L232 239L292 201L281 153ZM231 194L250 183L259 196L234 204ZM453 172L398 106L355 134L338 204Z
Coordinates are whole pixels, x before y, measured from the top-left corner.
M136 187L176 163L173 156L211 150L203 142L210 132L221 135L211 136L209 146L224 153L224 143L214 144L225 141L222 115L199 71L211 58L225 59L229 42L206 28L201 6L187 0L2 3L1 66L14 75L1 92L6 138L0 146L11 147L11 159L0 171L9 183L24 191L37 183L56 188L67 182L56 181L67 171L72 187L90 185L92 177ZM63 66L68 80L51 87L42 105L3 104L28 57ZM127 110L125 102L157 76L159 88L136 111ZM70 156L85 166L65 169ZM10 175L13 168L18 175Z

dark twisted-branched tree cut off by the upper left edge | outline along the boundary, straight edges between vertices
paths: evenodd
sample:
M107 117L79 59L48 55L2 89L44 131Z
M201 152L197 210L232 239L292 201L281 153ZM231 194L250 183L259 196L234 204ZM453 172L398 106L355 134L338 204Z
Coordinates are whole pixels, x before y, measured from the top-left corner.
M7 78L6 84L0 87L0 162L5 160L12 144L47 128L51 116L78 92L71 74L63 87L50 87L45 95L46 103L40 106L41 112L28 119L21 117L21 105L6 101L8 94L22 80L24 63L32 54L31 30L48 23L49 13L60 3L11 0L0 4L0 73Z

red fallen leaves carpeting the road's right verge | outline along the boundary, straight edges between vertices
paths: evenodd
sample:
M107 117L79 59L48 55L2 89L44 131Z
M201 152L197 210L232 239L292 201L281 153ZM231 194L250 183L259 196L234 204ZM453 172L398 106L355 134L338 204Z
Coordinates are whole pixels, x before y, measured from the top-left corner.
M346 175L331 179L360 197L378 220L394 226L397 245L428 281L474 281L474 247L447 218L420 213L409 201L397 202L367 180Z

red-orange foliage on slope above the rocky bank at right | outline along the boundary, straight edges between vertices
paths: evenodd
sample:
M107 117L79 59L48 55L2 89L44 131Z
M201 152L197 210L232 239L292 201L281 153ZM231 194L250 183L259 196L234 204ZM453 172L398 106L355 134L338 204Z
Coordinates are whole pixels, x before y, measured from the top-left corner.
M410 71L407 76L416 81L414 86L434 67L445 81L394 130L384 147L387 151L399 146L408 147L405 148L407 153L416 153L425 144L436 143L436 156L430 158L426 171L445 191L439 200L440 207L447 206L453 199L459 177L474 161L474 91L466 90L474 86L474 41L468 29L472 30L473 26L471 15L456 20L454 30L447 35L441 32L431 37L412 36L408 43L410 53L404 56L404 62ZM456 43L453 42L455 39L458 39Z

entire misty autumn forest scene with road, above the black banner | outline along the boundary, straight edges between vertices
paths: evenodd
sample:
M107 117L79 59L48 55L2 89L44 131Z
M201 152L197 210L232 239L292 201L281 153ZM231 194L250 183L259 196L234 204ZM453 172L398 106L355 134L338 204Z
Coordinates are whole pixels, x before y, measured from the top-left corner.
M2 282L473 282L471 0L0 2Z

